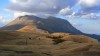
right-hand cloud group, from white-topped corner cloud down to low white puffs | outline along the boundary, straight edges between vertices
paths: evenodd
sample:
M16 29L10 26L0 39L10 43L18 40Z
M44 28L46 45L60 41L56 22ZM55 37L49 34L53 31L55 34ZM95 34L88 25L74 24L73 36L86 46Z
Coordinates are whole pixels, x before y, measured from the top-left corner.
M66 15L66 18L100 19L100 0L80 0L77 11ZM76 7L76 8L77 8Z

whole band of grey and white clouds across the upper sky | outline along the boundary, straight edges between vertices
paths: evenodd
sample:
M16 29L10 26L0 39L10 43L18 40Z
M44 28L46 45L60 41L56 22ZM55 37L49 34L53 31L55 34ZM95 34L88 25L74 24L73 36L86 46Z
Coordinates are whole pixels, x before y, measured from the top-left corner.
M10 2L11 5L7 9L28 14L100 18L100 0L10 0Z

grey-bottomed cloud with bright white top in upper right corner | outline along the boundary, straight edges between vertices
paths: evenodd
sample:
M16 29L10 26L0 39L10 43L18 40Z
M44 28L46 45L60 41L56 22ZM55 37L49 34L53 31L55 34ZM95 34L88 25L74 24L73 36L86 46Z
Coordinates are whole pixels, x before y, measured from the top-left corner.
M80 0L80 14L100 13L100 0Z

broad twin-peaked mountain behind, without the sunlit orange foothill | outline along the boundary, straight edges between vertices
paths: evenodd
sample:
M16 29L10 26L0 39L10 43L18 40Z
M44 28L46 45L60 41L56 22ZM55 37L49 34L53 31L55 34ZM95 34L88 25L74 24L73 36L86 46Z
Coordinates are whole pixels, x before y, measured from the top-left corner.
M43 19L32 15L20 16L1 29L19 30L28 25L37 27L37 29L48 31L49 33L53 33L53 32L67 32L67 33L74 33L74 34L82 33L76 28L74 28L67 20L52 17L52 16Z

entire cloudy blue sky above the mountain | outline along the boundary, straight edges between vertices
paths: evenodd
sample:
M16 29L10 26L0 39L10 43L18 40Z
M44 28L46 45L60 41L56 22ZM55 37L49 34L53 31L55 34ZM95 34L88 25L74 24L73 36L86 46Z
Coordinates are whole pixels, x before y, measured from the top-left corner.
M18 16L55 16L84 33L100 35L100 0L1 0L0 27Z

